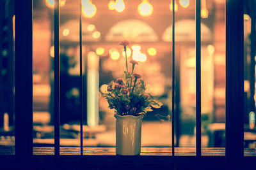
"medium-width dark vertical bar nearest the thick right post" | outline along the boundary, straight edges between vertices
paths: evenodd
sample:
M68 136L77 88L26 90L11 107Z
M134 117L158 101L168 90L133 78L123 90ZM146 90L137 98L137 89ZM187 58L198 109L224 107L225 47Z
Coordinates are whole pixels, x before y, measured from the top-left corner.
M201 156L201 0L196 0L196 156Z

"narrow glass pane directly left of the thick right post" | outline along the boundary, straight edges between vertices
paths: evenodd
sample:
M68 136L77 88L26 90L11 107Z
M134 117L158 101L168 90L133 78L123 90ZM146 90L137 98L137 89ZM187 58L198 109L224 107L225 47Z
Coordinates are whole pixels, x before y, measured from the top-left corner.
M202 0L202 155L225 156L225 37L225 1Z

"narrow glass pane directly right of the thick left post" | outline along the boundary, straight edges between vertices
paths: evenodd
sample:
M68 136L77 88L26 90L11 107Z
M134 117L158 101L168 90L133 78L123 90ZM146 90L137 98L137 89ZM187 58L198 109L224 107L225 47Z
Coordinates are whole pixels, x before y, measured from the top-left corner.
M38 147L54 146L53 1L33 4L33 154L38 154Z

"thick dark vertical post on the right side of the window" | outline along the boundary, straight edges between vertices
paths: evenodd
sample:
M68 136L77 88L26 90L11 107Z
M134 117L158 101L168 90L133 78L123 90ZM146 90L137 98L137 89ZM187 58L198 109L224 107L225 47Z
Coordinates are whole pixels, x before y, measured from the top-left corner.
M234 19L235 18L235 19ZM226 1L226 156L237 167L243 157L243 1Z

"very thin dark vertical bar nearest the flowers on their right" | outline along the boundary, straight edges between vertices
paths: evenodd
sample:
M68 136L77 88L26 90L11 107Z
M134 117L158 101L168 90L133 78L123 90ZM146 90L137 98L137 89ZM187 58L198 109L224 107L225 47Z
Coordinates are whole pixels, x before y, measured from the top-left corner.
M174 156L175 131L174 131L174 113L175 113L175 0L172 0L172 155Z

